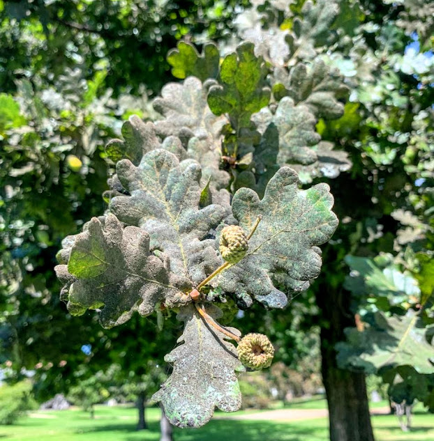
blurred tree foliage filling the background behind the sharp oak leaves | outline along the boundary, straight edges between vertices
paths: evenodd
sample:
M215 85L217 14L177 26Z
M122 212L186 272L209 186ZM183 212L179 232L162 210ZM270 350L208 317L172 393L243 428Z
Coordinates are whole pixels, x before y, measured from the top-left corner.
M158 340L167 327L157 332L156 320L151 332L144 332L137 318L103 331L90 313L83 318L66 314L52 267L61 238L80 231L84 219L106 207L100 194L114 171L103 146L119 136L121 120L131 114L158 118L149 96L171 79L170 66L176 77L184 77L198 75L203 64L209 70L202 79L215 77L214 50L208 52L214 64L202 59L206 47L195 52L194 63L191 58L186 63L179 56L187 47L181 38L198 45L216 40L220 56L241 40L252 42L264 65L284 74L260 78L261 87L272 87L272 115L283 95L294 95L290 73L300 63L308 72L315 63L325 63L343 85L336 86L339 94L330 100L337 109L334 119L325 118L327 112L315 114L315 130L334 144L333 152L347 155L352 168L330 176L321 160L310 168L297 164L304 182L331 185L341 219L334 240L324 247L320 279L294 295L290 309L254 314L253 307L233 320L237 327L267 330L278 360L315 375L320 370L318 328L324 340L333 319L329 304L347 317L327 342L332 351L336 341L345 339L343 328L354 326L355 314L368 327L375 312L389 317L412 310L424 326L432 325L431 2L298 0L290 8L282 2L252 3L0 1L0 363L12 360L17 378L23 367L36 369L41 399L112 363L123 366L126 384L146 389L147 359L158 359L161 346L170 344L164 337ZM167 63L167 52L176 46ZM345 105L344 88L351 91ZM310 111L315 108L311 105ZM224 145L233 153L238 127L225 128ZM236 153L235 164L223 167L241 184L260 185L261 176L267 179L267 161L264 173L247 180L246 173L244 180L239 176L250 173L251 157L266 138L250 132L250 124L242 128L244 150ZM310 157L316 149L307 150ZM322 154L335 162L328 150ZM397 375L407 383L393 387ZM419 375L397 366L384 371L383 378L391 396L417 393L433 409L432 378ZM414 392L410 386L416 383ZM129 396L127 386L121 394Z

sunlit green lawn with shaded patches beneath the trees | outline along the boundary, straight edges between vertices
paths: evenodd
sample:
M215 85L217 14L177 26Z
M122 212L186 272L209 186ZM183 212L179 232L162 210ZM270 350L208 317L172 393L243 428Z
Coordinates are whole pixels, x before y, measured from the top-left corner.
M98 406L93 420L82 410L38 411L13 426L0 426L0 441L158 441L159 410L148 409L147 419L149 431L137 432L134 408ZM434 441L434 415L417 412L410 433L403 433L390 415L373 417L373 424L377 441ZM215 419L200 429L175 429L177 441L227 441L234 435L237 441L327 441L327 419L285 423Z

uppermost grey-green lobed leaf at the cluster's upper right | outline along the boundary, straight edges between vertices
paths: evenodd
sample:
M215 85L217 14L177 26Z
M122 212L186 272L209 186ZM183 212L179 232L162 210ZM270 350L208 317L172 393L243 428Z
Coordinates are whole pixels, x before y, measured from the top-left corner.
M344 107L338 99L345 98L349 88L338 69L329 68L322 60L310 66L298 63L289 73L285 68L276 68L272 82L276 98L288 95L296 105L307 105L316 118L343 116Z

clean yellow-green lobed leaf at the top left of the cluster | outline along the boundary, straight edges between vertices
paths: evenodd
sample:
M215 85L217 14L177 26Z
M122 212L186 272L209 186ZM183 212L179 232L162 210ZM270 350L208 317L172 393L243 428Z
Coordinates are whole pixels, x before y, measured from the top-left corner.
M167 54L167 63L172 66L172 75L176 78L184 79L193 75L204 81L217 77L220 54L212 43L204 45L202 54L199 54L193 45L180 41L177 49Z

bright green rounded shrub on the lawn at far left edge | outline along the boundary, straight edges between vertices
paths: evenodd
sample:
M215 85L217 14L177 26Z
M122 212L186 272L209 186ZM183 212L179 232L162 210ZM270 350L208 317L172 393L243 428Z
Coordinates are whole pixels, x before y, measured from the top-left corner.
M0 424L13 424L27 410L35 408L30 382L0 386Z

